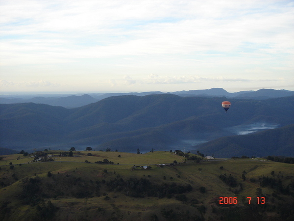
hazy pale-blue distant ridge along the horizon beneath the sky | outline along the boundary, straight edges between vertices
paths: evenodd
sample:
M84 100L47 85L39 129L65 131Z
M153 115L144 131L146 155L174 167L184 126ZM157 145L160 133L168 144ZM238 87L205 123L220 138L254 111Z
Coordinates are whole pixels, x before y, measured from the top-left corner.
M241 98L241 99L255 99L265 100L270 98L288 97L294 96L294 91L290 90L274 90L274 89L260 89L257 91L240 91L235 93L229 93L223 88L211 88L204 90L189 90L189 91L176 91L163 93L160 91L149 91L149 92L131 92L131 93L105 93L105 94L84 94L84 95L70 95L62 97L32 97L29 99L18 98L13 96L11 98L0 97L0 104L16 104L16 103L35 103L35 104L48 104L51 106L61 106L64 108L77 108L82 107L91 103L95 103L104 98L113 96L124 96L124 95L135 95L135 96L146 96L155 94L174 94L181 97L227 97L227 98ZM60 95L61 96L61 95Z

